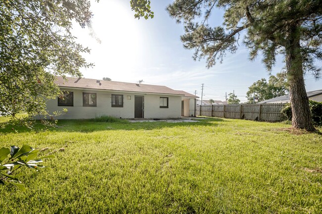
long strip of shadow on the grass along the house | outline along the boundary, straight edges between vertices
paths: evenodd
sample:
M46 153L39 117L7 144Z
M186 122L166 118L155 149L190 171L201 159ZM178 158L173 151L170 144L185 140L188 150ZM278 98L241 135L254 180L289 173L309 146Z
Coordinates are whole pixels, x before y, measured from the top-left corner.
M21 126L7 126L0 129L0 134L7 133L22 133L22 132L33 132L33 131L64 131L64 132L94 132L102 130L152 130L161 128L172 128L172 127L199 127L199 126L217 126L216 122L229 123L230 121L220 118L207 118L207 119L194 119L199 122L137 122L131 123L126 120L121 122L96 122L94 120L59 120L55 127L45 127L40 122L36 122L34 130Z

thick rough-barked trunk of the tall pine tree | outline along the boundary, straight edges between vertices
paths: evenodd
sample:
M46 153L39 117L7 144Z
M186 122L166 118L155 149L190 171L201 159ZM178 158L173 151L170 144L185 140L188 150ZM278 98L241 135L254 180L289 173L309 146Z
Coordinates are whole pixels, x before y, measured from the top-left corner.
M289 45L286 47L286 69L290 90L293 128L316 130L313 126L303 78L300 38L297 27L292 27L289 34Z

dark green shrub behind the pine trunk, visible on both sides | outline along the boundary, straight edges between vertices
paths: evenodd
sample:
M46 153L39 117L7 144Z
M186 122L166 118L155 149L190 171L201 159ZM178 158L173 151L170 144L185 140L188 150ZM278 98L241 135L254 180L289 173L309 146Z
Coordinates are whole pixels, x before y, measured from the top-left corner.
M322 126L322 102L309 100L311 116L315 126ZM287 103L281 113L284 120L292 120L292 109L290 103Z

